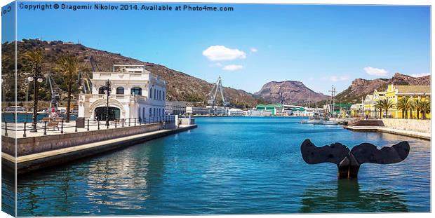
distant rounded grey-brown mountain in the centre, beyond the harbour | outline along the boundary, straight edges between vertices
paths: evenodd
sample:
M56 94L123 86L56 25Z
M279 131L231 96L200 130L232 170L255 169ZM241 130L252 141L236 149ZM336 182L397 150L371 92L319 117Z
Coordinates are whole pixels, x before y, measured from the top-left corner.
M328 99L327 95L316 93L299 81L272 81L266 83L257 93L267 102L280 102L281 95L284 104L301 104L305 102L319 102Z

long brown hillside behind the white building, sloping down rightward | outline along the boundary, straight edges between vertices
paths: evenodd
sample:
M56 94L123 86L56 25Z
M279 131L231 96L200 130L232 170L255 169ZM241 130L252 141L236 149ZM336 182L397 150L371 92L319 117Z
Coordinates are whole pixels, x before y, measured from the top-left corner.
M3 43L2 44L2 79L9 79L13 81L13 53L14 53L15 43ZM189 76L180 71L174 69L169 69L160 64L154 64L150 62L143 62L140 60L135 60L131 57L124 57L119 53L109 53L105 50L98 50L94 48L88 48L81 44L69 43L63 41L39 41L37 39L23 39L18 41L18 101L25 100L27 95L27 77L30 76L32 69L30 69L29 64L22 57L22 54L34 48L42 48L44 50L44 73L53 74L53 79L61 91L61 101L66 100L66 90L67 86L62 79L62 75L55 71L55 62L63 55L76 55L83 60L83 65L85 64L85 59L87 57L93 56L95 62L101 71L112 71L113 64L145 64L145 68L152 72L156 76L160 76L166 81L167 84L167 100L178 100L186 102L199 102L196 104L205 105L208 100L208 93L213 88L213 83L208 83L202 79L198 79L194 76ZM90 64L87 65L88 68ZM8 83L6 86L6 97L7 100L11 100L12 96L11 90L13 90L13 82ZM32 87L30 86L32 91ZM77 97L76 94L79 93L78 85L73 88L74 98ZM226 97L227 102L230 102L232 107L255 107L256 104L262 103L258 97L247 93L244 90L224 87L223 93ZM50 100L50 88L48 83L43 83L40 91L41 100ZM29 96L29 100L32 96ZM202 102L202 103L201 103Z

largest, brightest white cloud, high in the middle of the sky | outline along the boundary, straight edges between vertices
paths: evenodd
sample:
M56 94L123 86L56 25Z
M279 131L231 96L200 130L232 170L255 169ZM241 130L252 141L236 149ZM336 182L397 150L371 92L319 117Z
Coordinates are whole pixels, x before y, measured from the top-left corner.
M210 46L206 50L203 50L202 55L212 61L246 58L246 53L242 50L227 48L225 46Z

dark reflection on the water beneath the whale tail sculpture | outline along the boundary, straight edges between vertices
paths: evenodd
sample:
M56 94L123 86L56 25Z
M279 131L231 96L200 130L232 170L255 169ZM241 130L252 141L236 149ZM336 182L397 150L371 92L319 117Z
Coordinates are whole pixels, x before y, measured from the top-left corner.
M337 179L304 189L300 212L408 212L406 203L399 191L362 190L358 179Z

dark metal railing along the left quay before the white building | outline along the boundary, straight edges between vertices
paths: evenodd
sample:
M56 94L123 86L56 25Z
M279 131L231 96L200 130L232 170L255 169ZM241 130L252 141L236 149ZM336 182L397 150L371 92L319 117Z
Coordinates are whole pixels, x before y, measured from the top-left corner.
M87 131L103 130L109 128L123 128L123 127L136 126L136 125L147 125L153 123L163 123L163 129L164 129L166 128L167 124L175 123L175 116L161 116L161 117L149 117L149 118L121 118L121 119L110 120L109 122L98 120L98 119L85 118L83 121L84 123L80 123L77 121L75 121L75 123L74 121L72 123L65 123L63 118L62 119L58 118L58 120L44 119L36 122L36 131L42 132L43 135L47 135L48 131L58 130L60 132L56 132L56 134L58 133L63 134L66 132L78 132L79 129L84 129ZM22 132L22 137L27 137L28 133L34 130L32 122L15 123L15 122L3 121L1 124L2 124L1 126L2 135L4 136L8 136L8 131L13 131L15 133L20 132L20 134ZM80 124L83 124L81 125L81 128L79 128Z

